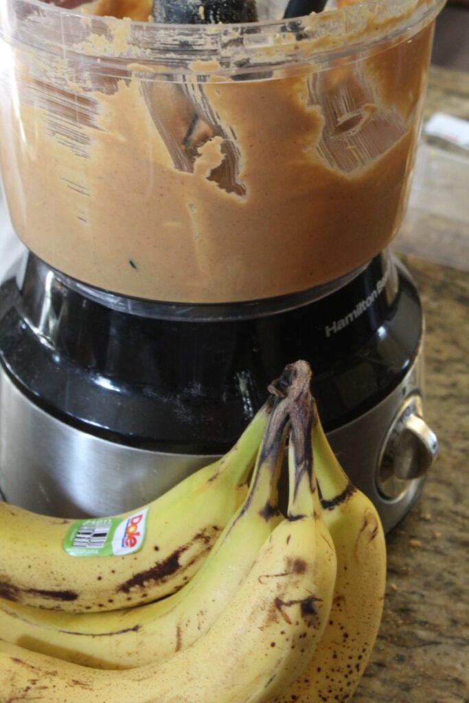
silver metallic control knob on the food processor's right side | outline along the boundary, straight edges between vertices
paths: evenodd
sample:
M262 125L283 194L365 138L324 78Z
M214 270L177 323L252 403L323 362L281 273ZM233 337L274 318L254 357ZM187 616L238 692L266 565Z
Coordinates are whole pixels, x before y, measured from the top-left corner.
M406 398L399 408L383 444L378 463L380 494L398 498L411 482L422 479L438 451L437 437L425 420L420 395Z

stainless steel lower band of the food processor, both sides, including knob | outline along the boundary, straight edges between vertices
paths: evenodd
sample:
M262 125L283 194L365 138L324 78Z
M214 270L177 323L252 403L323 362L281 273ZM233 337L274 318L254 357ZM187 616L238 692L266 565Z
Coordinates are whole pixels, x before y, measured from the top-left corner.
M435 435L421 420L421 375L419 350L392 394L328 434L386 530L418 497L437 450ZM414 417L418 432L408 427ZM112 515L151 501L215 458L155 453L82 432L41 410L0 364L0 490L8 502L60 517Z

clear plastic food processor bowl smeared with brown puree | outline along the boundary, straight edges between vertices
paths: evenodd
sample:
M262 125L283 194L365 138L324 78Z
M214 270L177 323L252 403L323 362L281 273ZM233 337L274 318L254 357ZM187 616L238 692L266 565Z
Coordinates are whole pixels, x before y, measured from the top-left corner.
M15 231L72 278L162 302L346 276L401 223L442 5L278 20L266 0L256 23L158 25L2 0Z

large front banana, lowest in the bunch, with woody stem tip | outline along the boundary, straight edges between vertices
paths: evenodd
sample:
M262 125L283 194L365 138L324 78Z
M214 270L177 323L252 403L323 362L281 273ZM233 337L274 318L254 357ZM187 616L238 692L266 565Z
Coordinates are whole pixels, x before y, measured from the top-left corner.
M336 561L312 475L305 369L289 372L292 391L274 408L262 446L283 449L278 437L290 415L288 516L210 630L164 662L127 671L88 669L0 641L1 703L261 703L300 675L328 621Z

